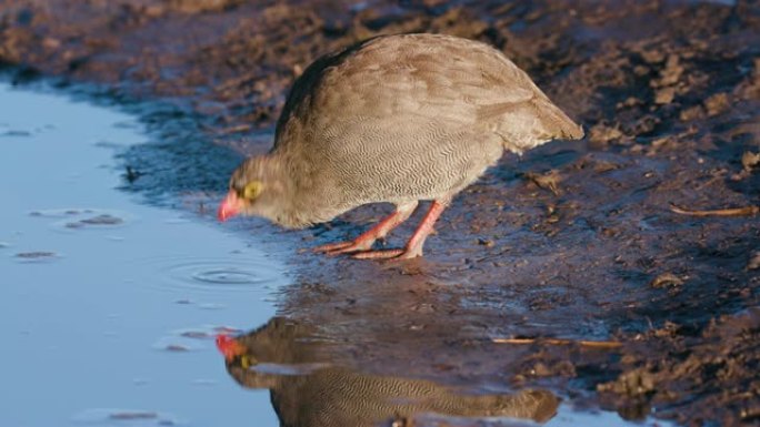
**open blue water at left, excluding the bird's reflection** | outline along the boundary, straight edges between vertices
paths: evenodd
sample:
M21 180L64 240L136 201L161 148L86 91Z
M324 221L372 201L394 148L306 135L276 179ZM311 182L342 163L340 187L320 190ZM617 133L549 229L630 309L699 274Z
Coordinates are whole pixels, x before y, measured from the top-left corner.
M0 426L278 425L213 334L266 323L283 267L116 191L113 155L146 141L123 113L0 85Z

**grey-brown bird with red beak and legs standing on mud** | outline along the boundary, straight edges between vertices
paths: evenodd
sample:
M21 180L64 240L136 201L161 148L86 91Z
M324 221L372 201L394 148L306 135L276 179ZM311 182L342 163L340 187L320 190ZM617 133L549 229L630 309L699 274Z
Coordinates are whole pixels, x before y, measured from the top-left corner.
M311 63L294 81L272 149L232 173L218 218L266 217L303 228L370 203L393 212L352 241L317 252L414 258L452 197L494 165L576 124L501 51L464 38L380 35ZM431 202L403 247L378 240Z

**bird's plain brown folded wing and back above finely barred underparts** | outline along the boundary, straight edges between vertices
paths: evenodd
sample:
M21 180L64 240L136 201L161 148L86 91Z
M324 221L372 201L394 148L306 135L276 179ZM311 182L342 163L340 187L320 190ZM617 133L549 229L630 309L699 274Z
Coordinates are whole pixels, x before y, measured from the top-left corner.
M381 37L318 60L291 91L278 141L293 140L279 138L291 122L292 131L311 132L296 139L320 144L349 128L387 134L404 124L449 134L474 129L517 152L582 135L501 52L431 34Z

